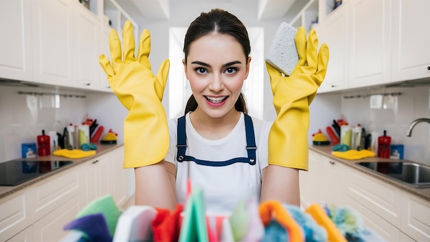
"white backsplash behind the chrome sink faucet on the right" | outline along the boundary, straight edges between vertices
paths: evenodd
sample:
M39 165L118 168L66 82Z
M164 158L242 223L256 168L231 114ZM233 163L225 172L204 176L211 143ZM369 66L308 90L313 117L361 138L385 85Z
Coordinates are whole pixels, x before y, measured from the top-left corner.
M361 124L366 133L376 131L383 135L386 130L392 137L391 144L404 145L405 159L430 165L430 125L417 124L411 137L406 135L413 120L430 118L429 91L430 87L403 87L350 92L341 96L341 113L350 125ZM396 96L398 93L400 95ZM371 109L370 97L363 97L369 94L395 94L392 108ZM345 96L354 98L343 98ZM385 96L385 100L389 100L389 96Z

